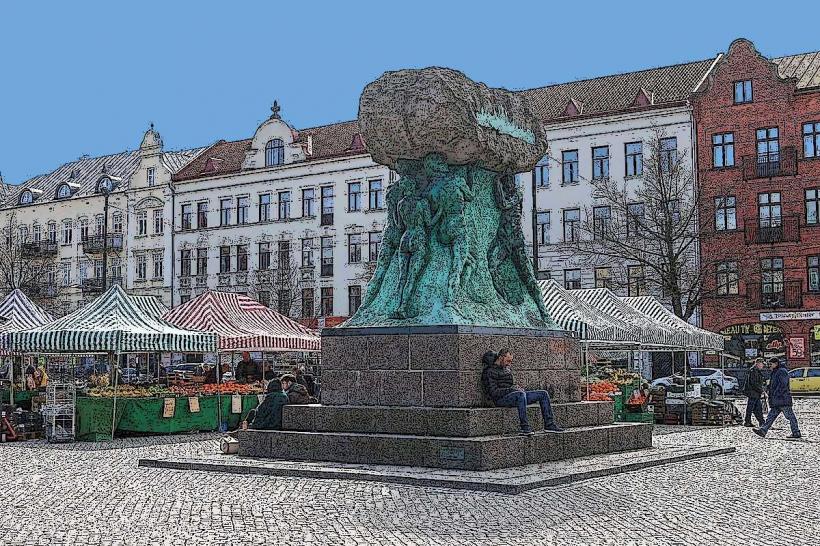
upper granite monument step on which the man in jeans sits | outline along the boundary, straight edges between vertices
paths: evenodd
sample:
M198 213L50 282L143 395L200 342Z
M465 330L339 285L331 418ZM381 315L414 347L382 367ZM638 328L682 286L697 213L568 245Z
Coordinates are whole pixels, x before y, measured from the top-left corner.
M564 428L608 425L613 422L612 402L553 404L555 421ZM527 408L530 424L543 428L537 405ZM516 433L516 408L428 408L401 406L284 407L285 430L303 432L361 432L416 436L475 437Z

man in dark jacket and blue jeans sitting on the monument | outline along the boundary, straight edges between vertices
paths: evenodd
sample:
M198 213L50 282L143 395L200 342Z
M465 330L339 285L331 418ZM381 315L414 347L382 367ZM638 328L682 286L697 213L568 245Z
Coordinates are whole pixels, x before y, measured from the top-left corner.
M488 352L484 361L484 388L487 395L499 407L518 408L518 419L521 424L521 434L533 434L529 419L527 419L527 404L538 402L541 406L541 415L544 418L544 431L562 432L564 429L555 424L550 405L550 396L547 391L525 390L515 384L512 365L513 356L507 349L501 349L497 355Z

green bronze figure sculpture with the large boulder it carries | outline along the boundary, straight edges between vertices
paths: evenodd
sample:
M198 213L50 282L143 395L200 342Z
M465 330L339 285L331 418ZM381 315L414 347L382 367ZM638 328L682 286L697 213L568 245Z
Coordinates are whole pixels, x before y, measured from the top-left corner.
M359 119L374 159L399 179L386 192L376 270L343 327L556 328L527 256L513 174L546 150L525 99L453 70L405 70L365 89Z

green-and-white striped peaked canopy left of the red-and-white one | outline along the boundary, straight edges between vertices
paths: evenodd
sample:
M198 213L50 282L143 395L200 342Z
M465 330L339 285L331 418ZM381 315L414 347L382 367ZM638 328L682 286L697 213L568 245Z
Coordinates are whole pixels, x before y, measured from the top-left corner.
M217 348L215 335L151 316L118 285L70 315L8 336L13 351L26 353L209 353Z

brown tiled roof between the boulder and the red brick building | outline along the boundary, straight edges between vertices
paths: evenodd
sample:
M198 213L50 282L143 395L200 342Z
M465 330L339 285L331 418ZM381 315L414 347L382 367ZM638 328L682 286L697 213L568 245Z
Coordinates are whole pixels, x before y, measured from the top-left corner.
M535 113L544 121L566 117L567 106L573 101L573 108L580 108L580 115L643 108L646 104L643 97L639 97L643 93L648 96L651 105L671 104L688 100L713 62L714 59L704 59L548 85L523 93L530 97Z

